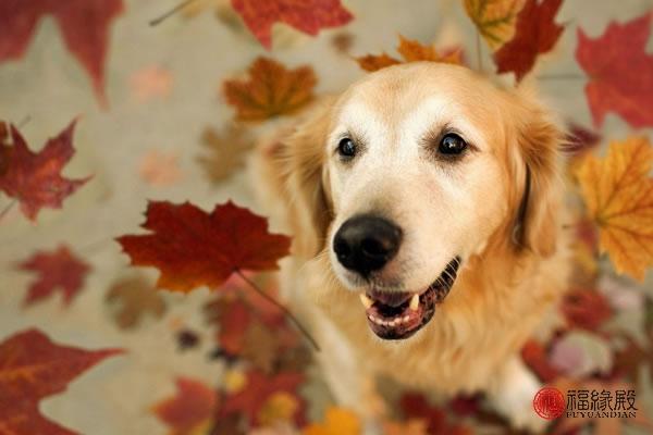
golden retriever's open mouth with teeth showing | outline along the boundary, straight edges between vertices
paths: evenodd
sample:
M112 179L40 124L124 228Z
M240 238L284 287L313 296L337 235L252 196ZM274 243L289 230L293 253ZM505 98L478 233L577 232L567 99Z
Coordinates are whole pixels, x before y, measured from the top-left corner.
M370 289L360 294L372 332L383 339L404 339L418 332L433 318L435 306L448 295L459 265L460 258L454 258L421 293Z

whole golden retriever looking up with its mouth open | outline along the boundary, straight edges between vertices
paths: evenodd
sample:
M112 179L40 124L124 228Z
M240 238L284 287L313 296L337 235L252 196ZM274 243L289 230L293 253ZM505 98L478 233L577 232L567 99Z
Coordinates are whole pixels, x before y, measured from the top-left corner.
M335 399L373 421L383 375L483 391L516 426L541 427L519 351L570 269L550 112L466 67L417 62L303 117L261 144L251 174L293 236L284 300Z

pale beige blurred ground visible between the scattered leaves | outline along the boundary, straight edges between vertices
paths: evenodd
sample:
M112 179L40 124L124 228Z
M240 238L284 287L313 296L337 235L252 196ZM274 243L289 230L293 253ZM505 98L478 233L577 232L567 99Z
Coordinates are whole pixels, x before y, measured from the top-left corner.
M168 296L173 303L165 316L133 333L115 327L103 298L108 286L130 272L126 257L111 238L136 231L147 199L190 200L208 209L231 197L254 206L244 176L214 188L195 161L204 126L220 127L231 116L217 94L221 80L245 70L259 54L272 54L288 65L310 63L318 73L320 91L338 91L362 75L354 62L333 49L331 38L340 30L313 39L278 29L281 42L266 53L249 35L234 30L210 12L193 20L173 17L152 28L147 22L176 0L126 3L126 13L113 26L107 62L109 110L99 108L88 77L63 47L50 18L40 23L23 60L0 65L0 119L19 123L29 116L22 132L32 147L40 147L47 137L81 116L75 135L77 154L65 172L70 176L94 174L93 181L66 200L63 210L41 212L36 225L16 210L0 223L0 339L37 326L65 344L127 350L72 383L64 396L44 401L47 415L84 434L162 434L164 427L148 408L173 393L174 376L207 382L219 376L219 369L206 363L204 352L177 353L171 334L171 324L178 319L202 331L198 307L206 299L206 289L187 297ZM476 58L473 29L455 0L349 0L345 4L356 15L345 28L355 37L352 53L392 50L401 33L422 41L460 41L468 59ZM596 36L609 20L629 20L652 5L650 0L567 0L558 20ZM575 29L566 32L556 52L541 62L539 73L578 72L572 60L575 44ZM490 65L488 58L484 64ZM150 65L172 73L172 92L162 101L139 103L132 95L130 77ZM582 80L546 80L541 89L564 117L590 125ZM607 139L623 138L629 128L611 115L603 132ZM141 181L139 159L153 148L181 156L180 183L156 188ZM5 203L8 199L0 197L0 208ZM62 241L93 264L84 291L67 309L57 297L22 309L32 276L16 271L14 263ZM646 288L651 289L651 279Z

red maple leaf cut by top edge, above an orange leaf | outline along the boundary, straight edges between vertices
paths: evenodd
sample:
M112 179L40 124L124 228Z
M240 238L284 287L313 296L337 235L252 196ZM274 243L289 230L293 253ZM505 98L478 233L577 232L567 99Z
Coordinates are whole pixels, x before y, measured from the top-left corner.
M232 5L268 50L274 23L286 23L316 36L321 28L342 26L354 17L341 0L232 0Z

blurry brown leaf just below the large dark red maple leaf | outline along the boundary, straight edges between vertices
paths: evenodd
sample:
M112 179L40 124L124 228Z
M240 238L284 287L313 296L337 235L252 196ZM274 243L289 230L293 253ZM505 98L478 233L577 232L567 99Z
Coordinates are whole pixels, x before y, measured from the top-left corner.
M131 277L113 284L106 296L114 306L113 320L123 330L138 326L144 315L160 319L167 310L165 300L141 276Z

